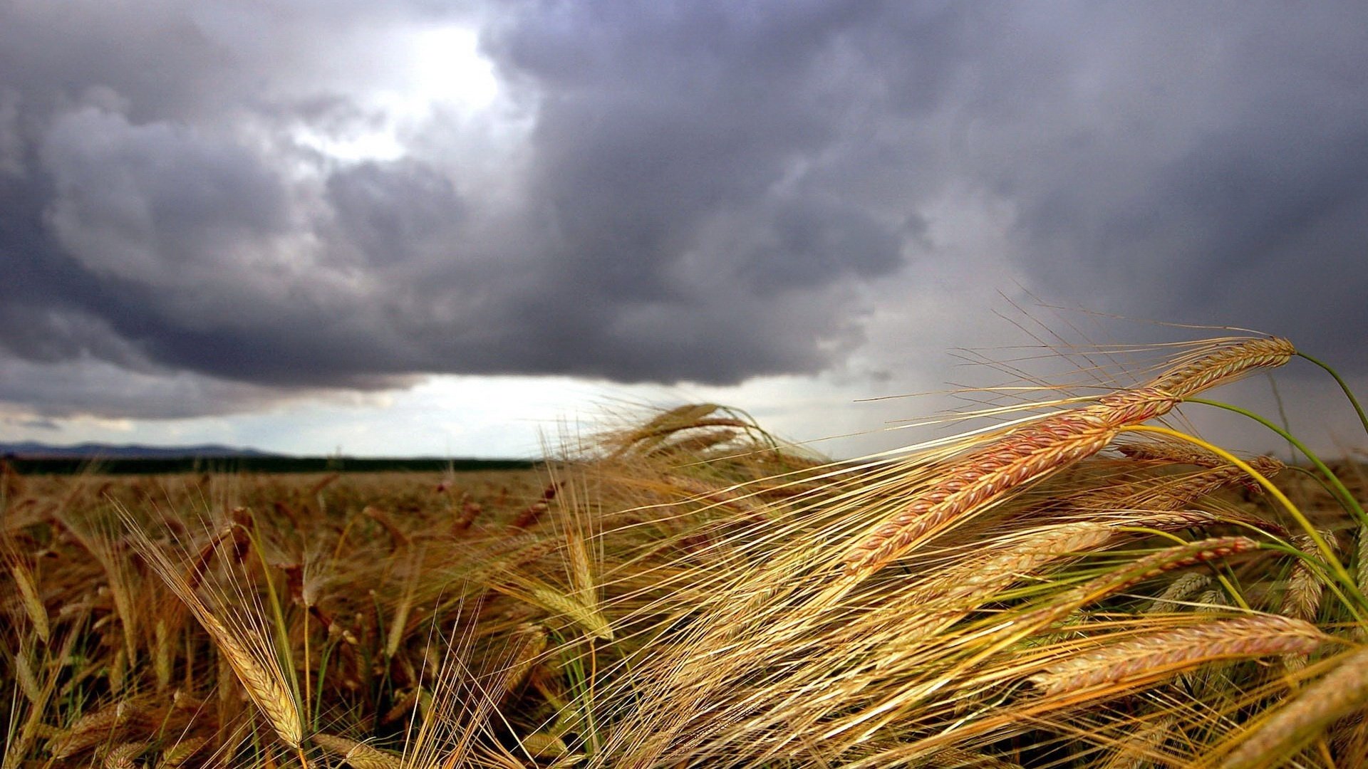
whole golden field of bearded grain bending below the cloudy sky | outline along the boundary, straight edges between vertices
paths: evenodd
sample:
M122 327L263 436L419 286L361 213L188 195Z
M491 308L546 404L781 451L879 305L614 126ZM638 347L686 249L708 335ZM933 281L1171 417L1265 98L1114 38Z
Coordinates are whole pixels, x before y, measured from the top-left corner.
M854 462L698 405L536 473L7 471L3 768L1365 766L1358 465L1168 427L1298 354Z

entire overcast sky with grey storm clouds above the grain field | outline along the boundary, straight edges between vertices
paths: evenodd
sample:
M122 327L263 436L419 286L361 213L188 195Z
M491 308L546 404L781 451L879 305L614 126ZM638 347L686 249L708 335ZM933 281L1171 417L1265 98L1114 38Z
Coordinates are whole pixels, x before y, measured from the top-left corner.
M1368 4L11 0L0 267L0 439L529 456L707 398L806 441L1036 322L1364 386Z

